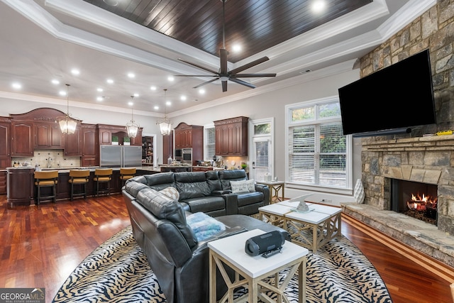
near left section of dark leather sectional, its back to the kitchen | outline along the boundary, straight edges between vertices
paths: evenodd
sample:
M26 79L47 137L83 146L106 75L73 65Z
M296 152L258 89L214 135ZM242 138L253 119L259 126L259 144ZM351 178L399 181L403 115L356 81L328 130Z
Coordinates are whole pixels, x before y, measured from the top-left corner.
M189 193L195 194L197 190L206 188L199 184L202 181L195 182L199 178L202 179L201 174L192 173L192 175L183 175L182 178L177 177L179 174L185 173L161 173L135 177L128 180L123 187L123 198L131 218L135 241L147 256L150 268L155 273L167 302L209 302L209 248L207 246L209 241L255 228L265 232L280 231L287 240L289 240L289 234L282 228L251 216L231 214L216 216L216 218L206 216L210 220L221 222L225 230L219 231L210 238L198 240L192 227L187 223L187 216L191 214L189 209L196 209L196 211L206 209L219 215L226 212L226 209L221 207L224 201L239 203L239 200L233 197L231 197L232 200L224 200L223 194L193 197ZM194 181L192 184L184 182L189 178ZM212 183L209 190L213 192L213 190L223 190L219 181L214 175L206 174L204 182ZM162 193L162 189L170 185L179 186L179 189L182 189L180 196L182 199L179 202ZM186 190L189 193L184 195ZM264 199L268 201L268 198ZM211 204L220 206L208 206ZM242 210L241 207L238 204L238 210ZM233 271L228 274L231 278L234 277ZM216 293L220 299L220 296L226 292L226 284L219 272L216 281Z

